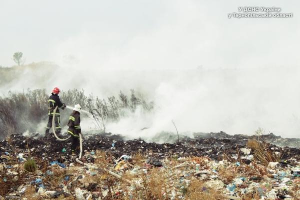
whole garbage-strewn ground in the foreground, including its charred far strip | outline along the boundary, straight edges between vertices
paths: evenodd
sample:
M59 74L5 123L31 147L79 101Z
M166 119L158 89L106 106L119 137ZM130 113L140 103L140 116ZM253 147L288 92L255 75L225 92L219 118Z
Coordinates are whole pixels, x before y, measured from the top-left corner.
M300 149L263 140L99 134L84 139L85 165L68 146L38 135L2 140L0 199L300 199Z

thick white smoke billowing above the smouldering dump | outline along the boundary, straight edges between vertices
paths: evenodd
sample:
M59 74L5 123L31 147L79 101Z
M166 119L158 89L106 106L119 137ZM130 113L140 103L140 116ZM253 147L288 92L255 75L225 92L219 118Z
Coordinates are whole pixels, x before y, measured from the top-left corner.
M58 69L38 82L31 78L43 71L27 72L11 88L83 88L101 98L134 88L154 101L155 110L137 109L107 124L107 131L132 137L174 131L172 119L180 132L252 133L262 127L298 137L299 16L227 18L238 6L295 12L298 2L136 3L149 19L122 4L129 11L112 10L114 23L88 20L51 45L48 57Z

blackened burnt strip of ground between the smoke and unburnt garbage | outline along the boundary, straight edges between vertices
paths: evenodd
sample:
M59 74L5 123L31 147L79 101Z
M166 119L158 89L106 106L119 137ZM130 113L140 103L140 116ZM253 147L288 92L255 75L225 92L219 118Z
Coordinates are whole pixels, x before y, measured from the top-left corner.
M176 143L155 143L146 142L142 139L126 140L121 135L102 133L83 135L84 153L91 150L104 150L110 152L115 158L123 154L133 155L140 152L146 156L156 157L158 159L169 157L183 156L208 156L211 159L222 160L224 154L234 155L237 149L246 147L248 139L255 136L246 135L228 135L224 132L219 133L197 133L194 138L181 136L179 142ZM264 139L270 140L278 137L272 133L264 135ZM114 143L114 147L112 146ZM66 152L62 152L62 148ZM300 160L300 149L295 147L278 147L269 144L268 148L276 148L283 152L282 159L295 158ZM33 135L26 137L20 134L12 134L9 138L0 141L0 154L8 152L10 155L24 153L24 157L34 157L44 161L58 160L60 162L70 162L73 158L70 155L70 141L58 141L53 134L47 137L41 135ZM241 153L239 151L239 153ZM0 161L5 161L5 157L1 157ZM93 162L85 160L87 162Z

